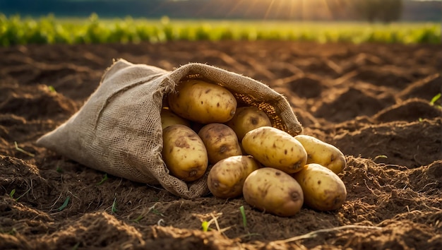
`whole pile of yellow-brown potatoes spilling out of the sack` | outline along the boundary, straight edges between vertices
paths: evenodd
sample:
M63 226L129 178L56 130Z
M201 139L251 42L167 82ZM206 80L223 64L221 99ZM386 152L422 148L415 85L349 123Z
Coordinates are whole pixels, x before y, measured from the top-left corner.
M347 191L345 156L312 136L276 129L257 107L239 107L226 88L187 80L165 98L162 157L184 181L203 177L218 198L244 196L258 210L295 215L306 206L335 210Z

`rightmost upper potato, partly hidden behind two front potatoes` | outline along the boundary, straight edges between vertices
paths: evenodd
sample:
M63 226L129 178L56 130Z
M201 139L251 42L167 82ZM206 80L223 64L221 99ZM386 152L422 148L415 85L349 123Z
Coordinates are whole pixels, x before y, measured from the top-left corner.
M344 154L334 145L325 143L318 138L306 135L294 136L303 146L307 152L307 164L318 163L328 169L331 169L335 174L339 174L347 162Z

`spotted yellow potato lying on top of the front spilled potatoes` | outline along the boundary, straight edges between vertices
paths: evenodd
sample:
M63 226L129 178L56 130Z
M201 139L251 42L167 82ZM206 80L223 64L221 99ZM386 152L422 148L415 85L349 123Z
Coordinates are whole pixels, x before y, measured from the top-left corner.
M288 174L299 171L307 161L307 153L289 133L271 126L262 126L246 133L242 139L244 151L265 167Z

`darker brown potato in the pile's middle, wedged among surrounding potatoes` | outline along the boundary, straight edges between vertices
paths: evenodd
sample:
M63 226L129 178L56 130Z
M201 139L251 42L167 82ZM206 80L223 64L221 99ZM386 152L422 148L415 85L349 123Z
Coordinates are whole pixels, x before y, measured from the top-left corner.
M225 124L207 124L198 132L207 149L209 163L234 155L242 155L237 134Z

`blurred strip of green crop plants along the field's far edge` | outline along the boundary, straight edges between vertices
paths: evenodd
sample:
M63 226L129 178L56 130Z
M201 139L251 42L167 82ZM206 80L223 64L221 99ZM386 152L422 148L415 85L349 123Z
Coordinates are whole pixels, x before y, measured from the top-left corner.
M324 23L277 20L38 19L0 14L0 46L167 42L172 40L291 40L308 42L441 42L441 23Z

